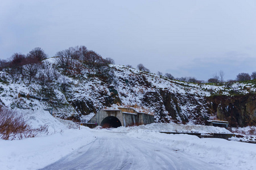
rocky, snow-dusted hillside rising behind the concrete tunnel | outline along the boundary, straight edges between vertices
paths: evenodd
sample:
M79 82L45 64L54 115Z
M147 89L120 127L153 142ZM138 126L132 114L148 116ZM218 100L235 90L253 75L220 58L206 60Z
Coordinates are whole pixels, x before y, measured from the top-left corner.
M64 71L56 66L56 59L45 59L44 69L38 73L47 76L54 72L50 83L43 82L42 76L31 83L21 78L14 81L7 69L1 71L0 103L19 109L53 108L60 118L79 118L98 109L122 106L150 112L155 122L204 125L218 118L232 126L256 123L255 81L195 84L119 65L109 65L105 74L99 74L80 61L75 61L79 71Z

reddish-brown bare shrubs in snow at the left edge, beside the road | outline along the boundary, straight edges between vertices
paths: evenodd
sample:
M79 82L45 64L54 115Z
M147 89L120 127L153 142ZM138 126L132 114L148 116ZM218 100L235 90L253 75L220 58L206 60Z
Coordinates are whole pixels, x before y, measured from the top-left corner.
M0 137L5 140L23 139L35 137L38 133L47 133L48 125L32 129L26 124L22 114L18 112L1 108L0 109Z

